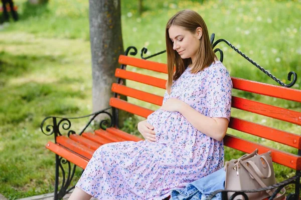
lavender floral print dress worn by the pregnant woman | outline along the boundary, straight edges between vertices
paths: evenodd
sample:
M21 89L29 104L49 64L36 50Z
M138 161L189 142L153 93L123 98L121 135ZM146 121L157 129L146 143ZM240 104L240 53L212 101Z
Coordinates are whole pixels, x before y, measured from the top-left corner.
M232 81L220 61L194 74L186 68L165 92L200 113L230 119ZM156 142L123 141L100 146L76 184L98 199L163 199L176 187L224 164L223 141L193 127L180 113L158 109L147 117Z

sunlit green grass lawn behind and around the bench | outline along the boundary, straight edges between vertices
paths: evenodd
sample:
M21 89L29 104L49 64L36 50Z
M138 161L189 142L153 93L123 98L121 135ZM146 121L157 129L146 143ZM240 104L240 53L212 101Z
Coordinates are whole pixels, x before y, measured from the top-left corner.
M301 5L289 0L143 0L144 12L137 14L137 3L122 1L122 33L124 46L143 46L152 54L165 49L165 25L178 10L190 8L205 19L209 32L225 38L258 64L286 83L288 71L301 74ZM88 1L50 0L33 6L27 0L15 0L20 21L0 28L0 193L16 199L53 191L54 153L44 145L52 136L40 130L48 115L80 116L91 113L92 81L89 44ZM289 13L289 14L287 14ZM232 76L277 84L255 66L226 46L224 64ZM139 53L138 53L139 54ZM137 55L138 57L139 55ZM152 58L166 62L166 55ZM148 71L128 67L141 73ZM161 78L165 74L152 73ZM141 87L162 95L164 90L132 81L130 87ZM293 86L300 88L300 80ZM300 110L300 103L260 97L234 90L239 96ZM129 98L132 103L158 108L153 104ZM233 109L233 115L299 134L300 126ZM129 118L123 129L133 134L140 117ZM75 130L88 119L74 120ZM241 133L229 130L230 133ZM285 145L245 137L296 153ZM226 159L241 152L226 148ZM292 174L289 168L274 165L278 180ZM81 170L76 171L76 179Z

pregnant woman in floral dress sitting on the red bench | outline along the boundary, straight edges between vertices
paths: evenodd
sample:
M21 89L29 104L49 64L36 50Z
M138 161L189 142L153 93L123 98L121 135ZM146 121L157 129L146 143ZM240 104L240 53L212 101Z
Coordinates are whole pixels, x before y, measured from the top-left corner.
M195 11L166 26L168 81L163 105L138 123L143 141L100 146L69 199L163 199L224 164L232 82Z

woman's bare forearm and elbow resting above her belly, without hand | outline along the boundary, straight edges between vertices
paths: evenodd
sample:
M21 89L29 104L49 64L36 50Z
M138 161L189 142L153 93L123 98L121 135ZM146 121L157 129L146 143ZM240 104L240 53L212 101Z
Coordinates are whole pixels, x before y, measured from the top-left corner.
M224 123L221 123L220 120L201 114L187 103L184 103L180 107L179 112L202 133L219 141L224 138L227 125L225 127Z

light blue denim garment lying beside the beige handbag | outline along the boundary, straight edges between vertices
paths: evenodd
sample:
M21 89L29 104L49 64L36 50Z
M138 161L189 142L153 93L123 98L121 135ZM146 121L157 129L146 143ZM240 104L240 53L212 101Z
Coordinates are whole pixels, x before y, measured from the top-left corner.
M184 188L176 188L171 192L171 200L203 200L210 193L225 188L226 172L221 168L207 176L195 180ZM212 200L221 200L221 192L216 194Z

